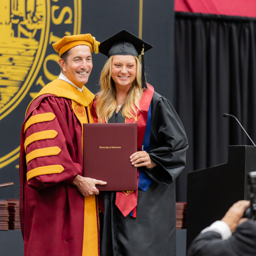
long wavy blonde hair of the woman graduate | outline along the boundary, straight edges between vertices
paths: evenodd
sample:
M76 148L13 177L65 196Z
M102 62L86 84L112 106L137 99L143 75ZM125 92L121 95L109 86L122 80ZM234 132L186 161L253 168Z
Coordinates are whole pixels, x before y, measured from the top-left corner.
M112 62L111 56L105 63L101 75L100 75L100 91L97 93L96 114L98 116L99 123L108 123L116 110L116 88L112 79ZM131 88L129 89L125 103L122 108L123 117L135 118L137 116L137 110L140 110L140 99L143 94L141 85L141 64L137 57L134 56L137 63L137 74L133 81Z

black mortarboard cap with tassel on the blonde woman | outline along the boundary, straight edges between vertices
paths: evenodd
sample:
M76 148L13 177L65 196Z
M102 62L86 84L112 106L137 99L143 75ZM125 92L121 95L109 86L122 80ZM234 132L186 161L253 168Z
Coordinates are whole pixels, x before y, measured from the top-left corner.
M122 30L101 42L99 45L99 52L108 57L113 55L133 55L138 57L141 54L142 88L147 88L144 68L144 52L150 50L151 48L153 48L153 46L147 44L147 42L141 40L139 37L126 30Z

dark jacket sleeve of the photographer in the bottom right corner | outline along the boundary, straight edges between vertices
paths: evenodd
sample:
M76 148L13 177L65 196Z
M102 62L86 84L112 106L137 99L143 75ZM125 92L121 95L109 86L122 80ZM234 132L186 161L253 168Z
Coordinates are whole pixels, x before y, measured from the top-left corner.
M188 249L188 256L249 256L256 255L256 223L246 221L232 236L222 240L214 231L199 234Z

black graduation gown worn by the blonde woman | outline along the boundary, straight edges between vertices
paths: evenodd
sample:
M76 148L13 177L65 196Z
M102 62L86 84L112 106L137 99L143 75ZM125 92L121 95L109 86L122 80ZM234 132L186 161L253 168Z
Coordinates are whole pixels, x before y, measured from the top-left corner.
M154 92L151 101L151 138L148 154L157 164L143 168L153 183L138 190L137 218L123 217L115 205L116 193L104 192L100 217L101 256L175 256L176 215L174 180L185 167L188 147L184 127L173 106ZM124 123L121 112L110 123Z

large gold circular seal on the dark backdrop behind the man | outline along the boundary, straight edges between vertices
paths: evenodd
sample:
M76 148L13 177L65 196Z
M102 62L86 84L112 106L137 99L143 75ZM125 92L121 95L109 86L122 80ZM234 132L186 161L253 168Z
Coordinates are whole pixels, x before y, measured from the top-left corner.
M59 59L52 44L65 35L80 34L82 0L0 0L0 14L0 121L13 127L10 120L24 115L28 102L58 78L50 68ZM2 131L5 145L12 133L8 128ZM4 146L0 169L19 157L19 140L12 141L15 149L10 152Z

